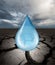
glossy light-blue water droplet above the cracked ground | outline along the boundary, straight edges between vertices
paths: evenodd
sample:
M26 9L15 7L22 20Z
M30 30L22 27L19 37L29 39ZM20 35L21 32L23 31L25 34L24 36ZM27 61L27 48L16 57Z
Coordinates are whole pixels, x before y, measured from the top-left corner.
M24 51L33 50L37 47L39 36L28 16L26 16L23 25L18 30L15 39L17 47Z

